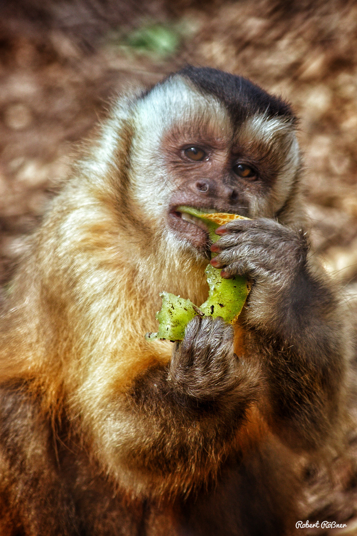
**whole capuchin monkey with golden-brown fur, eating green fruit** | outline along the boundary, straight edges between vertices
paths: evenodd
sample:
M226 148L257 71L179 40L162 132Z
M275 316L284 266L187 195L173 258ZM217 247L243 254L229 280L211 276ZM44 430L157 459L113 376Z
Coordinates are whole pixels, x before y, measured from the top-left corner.
M295 530L297 460L338 441L349 352L304 230L296 123L210 68L118 100L3 308L0 534ZM182 205L250 220L212 245ZM238 324L147 341L160 292L206 300L211 251L252 284Z

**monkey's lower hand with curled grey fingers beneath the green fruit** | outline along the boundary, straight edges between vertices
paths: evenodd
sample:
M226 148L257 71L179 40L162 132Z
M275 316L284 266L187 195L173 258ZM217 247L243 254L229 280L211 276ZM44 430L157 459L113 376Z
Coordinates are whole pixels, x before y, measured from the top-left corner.
M233 327L220 317L196 316L173 349L168 379L189 397L213 400L234 388L238 368Z

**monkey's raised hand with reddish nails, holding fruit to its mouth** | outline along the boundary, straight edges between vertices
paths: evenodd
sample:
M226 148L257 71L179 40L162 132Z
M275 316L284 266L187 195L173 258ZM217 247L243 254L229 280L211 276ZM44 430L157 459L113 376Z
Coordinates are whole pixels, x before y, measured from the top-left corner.
M247 320L265 326L279 323L281 311L288 316L308 286L305 235L267 218L235 220L216 232L221 238L212 244L211 251L218 255L211 264L223 269L222 277L246 276L253 282Z

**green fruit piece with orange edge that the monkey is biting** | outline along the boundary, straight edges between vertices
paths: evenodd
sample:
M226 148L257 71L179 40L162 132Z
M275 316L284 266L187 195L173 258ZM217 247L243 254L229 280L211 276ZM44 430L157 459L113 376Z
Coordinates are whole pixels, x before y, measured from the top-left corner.
M207 225L208 233L212 242L216 242L219 236L215 234L217 227L236 219L248 219L237 214L207 213L192 207L180 206L180 212L186 212L196 218L200 218ZM243 277L223 279L221 270L211 264L204 271L209 286L208 299L200 307L195 306L190 300L175 296L168 292L162 292L162 308L156 313L159 321L159 329L156 333L147 333L147 340L168 339L171 341L183 340L185 327L196 315L221 316L226 322L233 324L250 291L249 282Z

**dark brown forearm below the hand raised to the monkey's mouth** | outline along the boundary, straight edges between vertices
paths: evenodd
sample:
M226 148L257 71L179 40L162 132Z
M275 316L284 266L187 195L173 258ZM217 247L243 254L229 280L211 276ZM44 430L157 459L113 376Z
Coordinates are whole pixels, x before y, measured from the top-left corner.
M275 418L284 433L292 426L310 444L318 444L339 415L346 348L338 309L329 286L304 267L271 294L264 309L270 314L255 318L253 344L260 341Z

